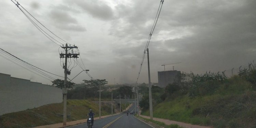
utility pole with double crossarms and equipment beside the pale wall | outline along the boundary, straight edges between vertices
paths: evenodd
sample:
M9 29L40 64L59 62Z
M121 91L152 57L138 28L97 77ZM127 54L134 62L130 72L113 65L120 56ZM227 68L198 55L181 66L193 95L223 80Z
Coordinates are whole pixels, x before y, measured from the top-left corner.
M65 66L64 68L64 74L65 74L65 79L64 79L64 88L62 88L62 94L63 94L63 126L67 125L67 75L70 75L70 71L67 69L67 58L78 58L79 54L74 54L74 53L69 53L68 54L68 48L73 49L77 48L77 46L68 46L66 43L66 46L61 47L65 49L65 54L61 53L60 58L65 58Z

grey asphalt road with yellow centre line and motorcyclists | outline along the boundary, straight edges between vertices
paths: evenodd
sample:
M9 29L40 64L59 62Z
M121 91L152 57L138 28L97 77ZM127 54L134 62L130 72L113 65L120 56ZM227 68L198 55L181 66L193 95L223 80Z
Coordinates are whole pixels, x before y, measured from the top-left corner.
M133 111L134 105L129 109L129 113ZM86 124L80 124L69 128L87 128ZM94 120L93 128L152 128L150 125L141 122L135 118L132 114L128 116L126 113Z

